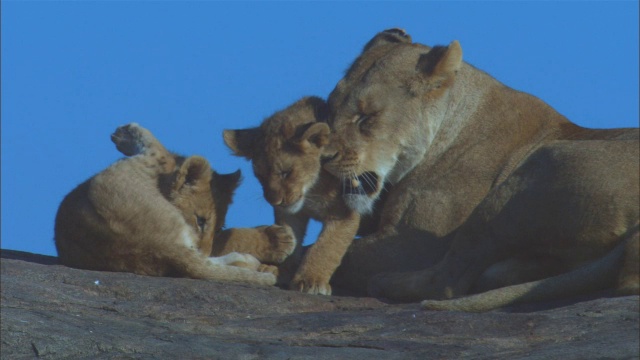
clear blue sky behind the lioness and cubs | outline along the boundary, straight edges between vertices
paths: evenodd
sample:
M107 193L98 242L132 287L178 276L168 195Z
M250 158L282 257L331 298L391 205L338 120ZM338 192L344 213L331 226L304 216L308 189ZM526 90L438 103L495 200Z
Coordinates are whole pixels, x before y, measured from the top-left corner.
M587 127L638 126L638 2L2 1L2 248L55 255L58 204L138 122L244 182L227 226L270 224L222 130L326 97L378 31L464 58ZM313 241L317 226L307 242Z

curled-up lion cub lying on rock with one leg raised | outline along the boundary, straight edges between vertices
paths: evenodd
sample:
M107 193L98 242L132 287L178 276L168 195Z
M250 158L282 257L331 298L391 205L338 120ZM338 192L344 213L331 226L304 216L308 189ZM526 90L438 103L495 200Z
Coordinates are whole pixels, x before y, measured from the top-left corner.
M273 274L255 271L260 263L251 255L207 256L214 229L221 223L212 193L215 173L207 160L174 156L137 124L119 127L111 139L131 157L80 184L60 204L55 243L62 264L151 276L275 283ZM215 175L231 177L227 179L231 192L237 186L239 174ZM226 205L230 200L229 196Z

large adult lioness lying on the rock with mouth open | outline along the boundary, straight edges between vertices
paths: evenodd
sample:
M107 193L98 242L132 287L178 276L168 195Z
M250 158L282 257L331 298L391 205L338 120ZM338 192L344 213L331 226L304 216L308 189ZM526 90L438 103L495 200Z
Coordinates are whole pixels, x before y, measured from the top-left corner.
M367 211L393 185L334 284L401 301L496 289L423 303L467 311L638 294L637 128L579 127L464 63L457 41L432 48L397 29L367 44L328 102L339 153L325 168L376 180L347 204Z

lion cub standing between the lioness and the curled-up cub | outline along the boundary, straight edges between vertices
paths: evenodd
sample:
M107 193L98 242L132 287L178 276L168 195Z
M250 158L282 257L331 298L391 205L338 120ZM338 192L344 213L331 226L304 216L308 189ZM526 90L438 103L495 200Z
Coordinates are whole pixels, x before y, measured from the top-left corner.
M225 130L224 141L235 155L253 163L276 223L293 229L299 245L294 261L299 261L309 219L322 222L322 232L290 287L331 295L329 280L358 231L360 215L342 200L340 180L322 169L329 139L329 126L322 122L326 116L324 100L305 97L259 127Z

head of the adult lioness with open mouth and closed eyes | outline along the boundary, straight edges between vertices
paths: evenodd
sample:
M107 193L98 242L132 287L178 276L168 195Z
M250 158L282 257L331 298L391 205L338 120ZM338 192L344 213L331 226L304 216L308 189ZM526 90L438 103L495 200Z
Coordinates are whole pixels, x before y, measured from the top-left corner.
M461 64L457 41L430 48L387 30L338 82L328 100L338 154L325 169L343 179L353 210L371 211L384 184L397 183L422 160Z

